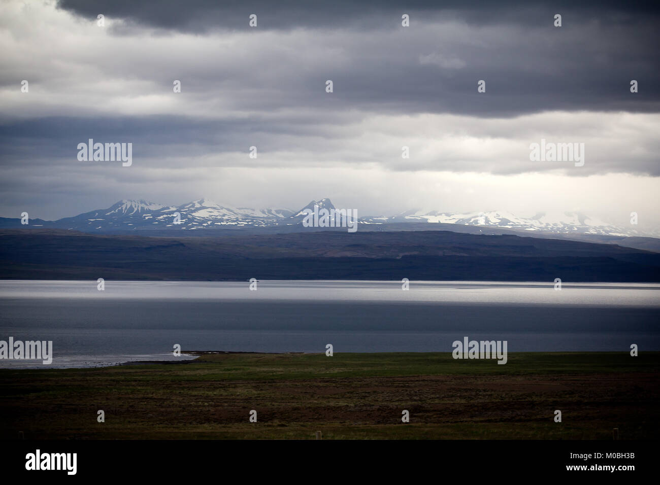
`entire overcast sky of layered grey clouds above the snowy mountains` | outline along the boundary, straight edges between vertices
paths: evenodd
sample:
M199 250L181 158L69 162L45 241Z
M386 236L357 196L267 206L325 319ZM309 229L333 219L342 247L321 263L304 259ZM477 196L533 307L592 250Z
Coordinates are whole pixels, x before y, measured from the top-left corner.
M659 10L574 3L2 1L0 216L330 197L657 228ZM80 162L90 138L133 164ZM531 161L541 139L583 166Z

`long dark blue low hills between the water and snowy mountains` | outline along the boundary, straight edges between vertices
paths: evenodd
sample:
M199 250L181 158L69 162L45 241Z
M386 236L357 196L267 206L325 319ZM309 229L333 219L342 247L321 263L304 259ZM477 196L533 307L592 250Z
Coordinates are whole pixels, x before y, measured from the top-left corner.
M0 278L99 277L660 282L660 254L615 244L448 231L162 238L0 230Z

